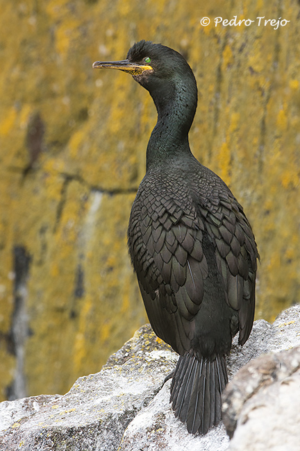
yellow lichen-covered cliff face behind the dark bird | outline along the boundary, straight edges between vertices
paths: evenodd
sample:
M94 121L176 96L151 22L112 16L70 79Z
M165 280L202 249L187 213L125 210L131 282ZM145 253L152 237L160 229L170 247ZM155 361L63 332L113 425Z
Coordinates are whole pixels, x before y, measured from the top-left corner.
M145 321L126 227L156 111L92 71L142 38L194 69L191 146L253 224L258 317L299 299L299 3L183 3L0 1L1 399L65 393ZM235 15L290 22L215 26Z

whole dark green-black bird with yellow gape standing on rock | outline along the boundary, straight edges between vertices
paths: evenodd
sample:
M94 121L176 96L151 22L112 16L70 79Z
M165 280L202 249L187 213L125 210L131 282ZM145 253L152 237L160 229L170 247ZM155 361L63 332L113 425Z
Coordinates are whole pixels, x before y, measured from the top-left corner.
M258 251L230 189L190 151L197 84L180 53L140 41L121 69L146 88L158 111L147 172L133 203L128 248L154 332L180 355L172 374L175 415L206 434L221 419L233 336L253 325Z

